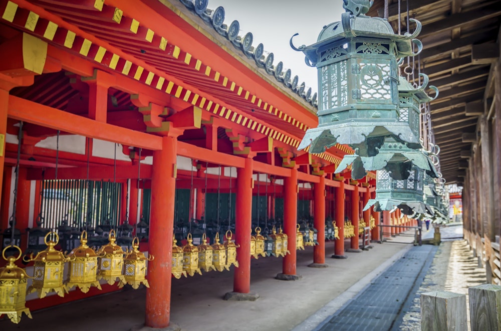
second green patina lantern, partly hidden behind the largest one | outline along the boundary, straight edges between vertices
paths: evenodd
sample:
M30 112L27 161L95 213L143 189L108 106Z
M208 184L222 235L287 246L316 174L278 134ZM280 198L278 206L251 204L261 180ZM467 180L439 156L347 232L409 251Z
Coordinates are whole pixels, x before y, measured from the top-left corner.
M399 112L398 122L406 123L413 134L419 137L419 105L421 103L434 100L438 96L438 89L435 90L435 97L426 94L428 76L421 73L423 84L414 88L404 77L399 77L398 86ZM357 153L345 155L336 169L336 173L343 171L350 164L352 165L351 176L353 179L361 179L367 175L367 171L386 169L393 179L407 179L412 165L426 170L432 177L438 177L435 166L428 157L429 151L424 151L420 143L402 142L395 136L387 136L383 144L378 149L377 155L361 156Z

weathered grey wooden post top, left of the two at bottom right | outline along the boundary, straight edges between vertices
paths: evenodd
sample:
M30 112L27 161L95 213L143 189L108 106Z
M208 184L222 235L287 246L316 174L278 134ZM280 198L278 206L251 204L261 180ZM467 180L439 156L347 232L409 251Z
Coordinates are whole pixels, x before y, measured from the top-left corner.
M466 295L449 291L421 294L422 331L467 331Z

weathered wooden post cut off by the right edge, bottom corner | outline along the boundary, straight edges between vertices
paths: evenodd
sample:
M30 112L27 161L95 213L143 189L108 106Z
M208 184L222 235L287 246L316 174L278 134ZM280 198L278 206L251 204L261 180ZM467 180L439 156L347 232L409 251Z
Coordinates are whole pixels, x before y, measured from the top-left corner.
M468 288L471 331L501 331L501 286L483 284Z

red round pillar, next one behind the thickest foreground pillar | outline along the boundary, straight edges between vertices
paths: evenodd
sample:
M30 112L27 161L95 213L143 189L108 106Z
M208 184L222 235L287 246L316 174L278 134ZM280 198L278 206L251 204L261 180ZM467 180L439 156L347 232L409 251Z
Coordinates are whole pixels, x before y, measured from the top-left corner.
M233 273L233 292L250 291L250 233L252 231L253 160L245 159L245 166L236 169L235 242L239 266Z

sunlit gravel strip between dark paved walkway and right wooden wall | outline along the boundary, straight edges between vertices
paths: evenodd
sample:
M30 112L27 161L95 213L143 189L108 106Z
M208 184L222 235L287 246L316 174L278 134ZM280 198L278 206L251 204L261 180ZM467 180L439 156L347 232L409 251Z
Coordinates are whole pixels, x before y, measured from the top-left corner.
M478 260L473 257L466 240L443 241L411 306L405 312L400 330L421 330L420 295L438 290L466 294L469 329L468 287L485 283L485 268L478 267Z

